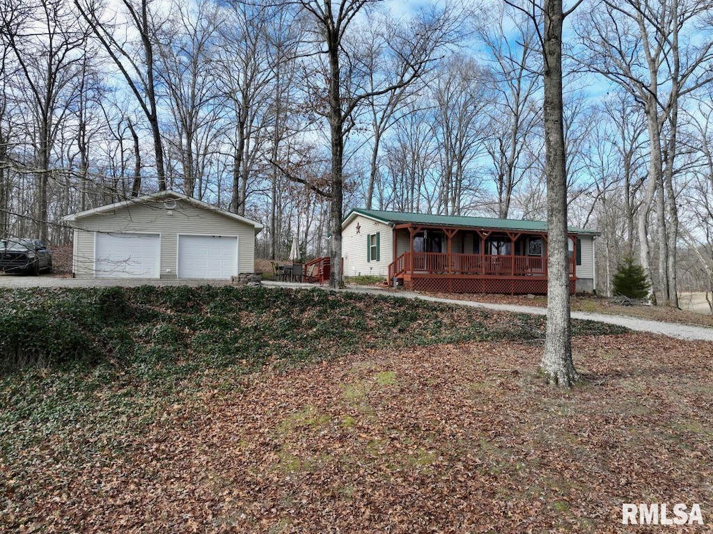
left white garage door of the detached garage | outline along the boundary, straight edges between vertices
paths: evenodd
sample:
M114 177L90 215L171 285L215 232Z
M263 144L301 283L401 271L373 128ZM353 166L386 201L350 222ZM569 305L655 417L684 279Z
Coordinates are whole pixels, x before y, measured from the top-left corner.
M94 276L97 278L158 278L158 234L97 233Z

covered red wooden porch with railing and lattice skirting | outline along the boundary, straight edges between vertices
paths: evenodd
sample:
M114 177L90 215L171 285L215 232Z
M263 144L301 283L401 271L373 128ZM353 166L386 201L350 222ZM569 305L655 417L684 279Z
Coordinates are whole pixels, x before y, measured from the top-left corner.
M547 293L546 232L498 228L394 226L389 281L406 289L460 293ZM570 235L570 292L577 236Z

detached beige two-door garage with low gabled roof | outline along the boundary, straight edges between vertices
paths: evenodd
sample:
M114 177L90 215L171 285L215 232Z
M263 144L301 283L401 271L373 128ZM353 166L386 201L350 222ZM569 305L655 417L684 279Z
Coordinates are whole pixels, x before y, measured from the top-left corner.
M77 278L230 279L255 270L259 222L175 191L64 217Z

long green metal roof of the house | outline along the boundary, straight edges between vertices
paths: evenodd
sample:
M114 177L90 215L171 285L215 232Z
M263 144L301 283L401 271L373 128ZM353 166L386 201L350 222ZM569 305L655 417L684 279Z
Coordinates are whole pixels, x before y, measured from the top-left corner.
M496 230L523 230L525 232L547 232L547 222L536 220L495 219L491 217L461 217L451 215L431 215L429 213L404 213L383 210L356 209L344 217L344 222L354 214L365 215L386 223L412 223L424 226L456 226L473 228L493 228ZM584 228L568 227L573 234L599 235L600 232Z

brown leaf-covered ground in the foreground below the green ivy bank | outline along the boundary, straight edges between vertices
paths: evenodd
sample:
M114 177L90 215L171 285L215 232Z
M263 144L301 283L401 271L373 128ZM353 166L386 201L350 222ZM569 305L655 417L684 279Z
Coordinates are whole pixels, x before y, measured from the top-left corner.
M170 394L101 365L91 388L29 369L0 384L17 412L0 441L0 530L711 532L713 346L574 346L585 380L568 393L538 379L538 342L509 337L250 374L205 365L170 375ZM630 502L699 503L707 524L625 527Z

